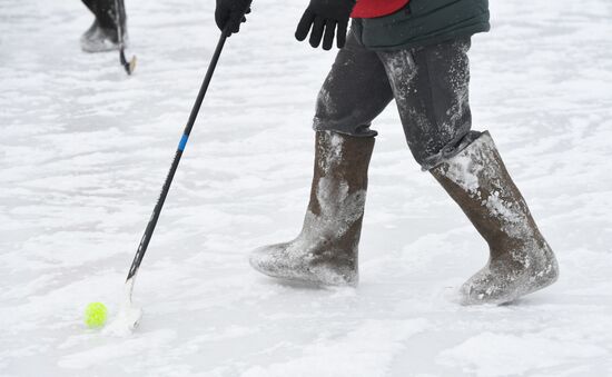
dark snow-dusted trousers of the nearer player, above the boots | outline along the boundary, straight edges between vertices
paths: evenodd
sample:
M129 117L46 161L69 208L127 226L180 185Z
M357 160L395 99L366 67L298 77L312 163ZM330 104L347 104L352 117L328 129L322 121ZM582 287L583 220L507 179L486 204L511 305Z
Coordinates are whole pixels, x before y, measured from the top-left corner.
M414 158L431 169L478 135L471 131L470 46L470 38L461 38L372 51L354 24L320 89L314 129L374 137L372 121L395 99Z

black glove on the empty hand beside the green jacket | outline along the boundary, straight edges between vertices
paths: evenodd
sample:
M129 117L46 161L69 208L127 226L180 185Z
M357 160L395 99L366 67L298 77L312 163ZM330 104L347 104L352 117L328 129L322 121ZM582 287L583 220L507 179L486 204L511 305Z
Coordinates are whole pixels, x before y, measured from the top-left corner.
M298 41L305 40L312 27L312 47L317 48L323 38L323 49L332 49L335 32L338 48L342 49L346 42L346 29L354 7L355 0L310 0L297 24L295 38Z

